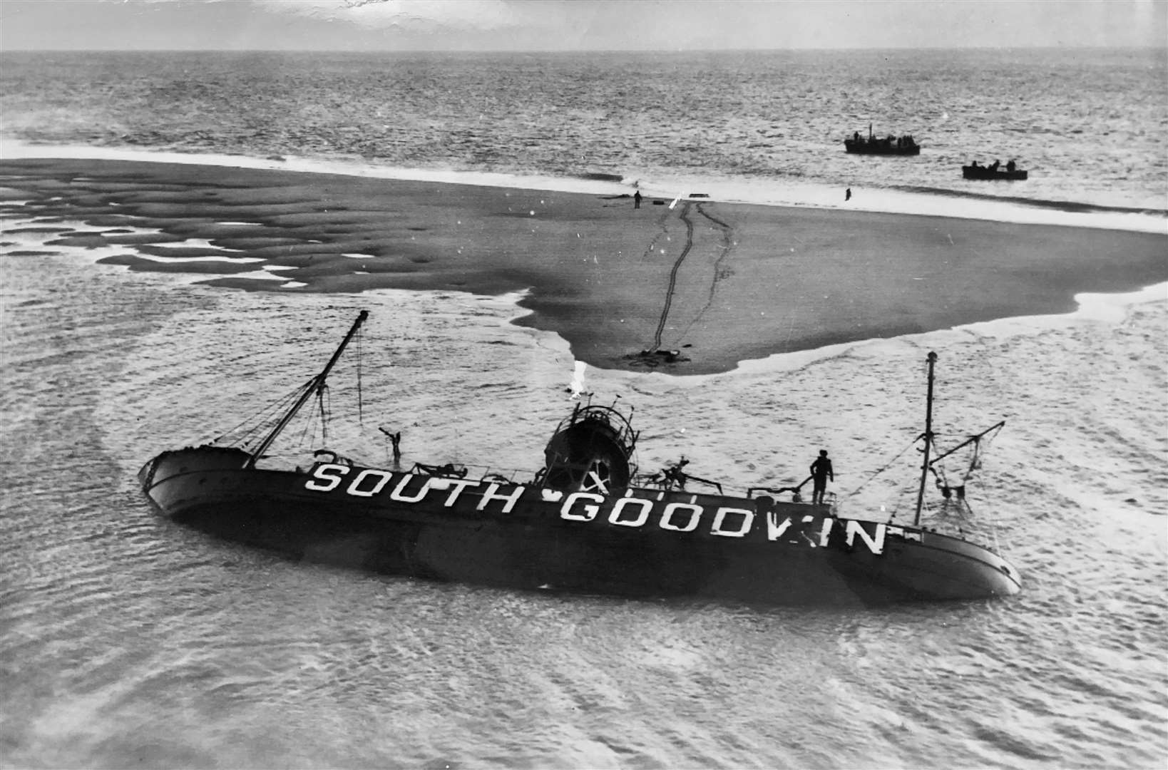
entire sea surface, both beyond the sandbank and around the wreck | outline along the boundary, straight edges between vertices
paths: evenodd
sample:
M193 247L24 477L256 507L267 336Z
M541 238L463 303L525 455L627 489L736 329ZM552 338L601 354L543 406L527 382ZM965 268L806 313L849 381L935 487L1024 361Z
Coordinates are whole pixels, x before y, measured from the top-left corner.
M941 201L983 193L925 169L952 178L985 140L1058 179L986 194L1162 216L1163 51L955 56L5 54L0 107L7 137L194 161L296 151L366 171L746 189L787 183L798 154L822 189L941 187L927 194ZM869 119L911 131L922 160L846 157L842 133ZM791 141L745 152L763 131ZM1105 180L1118 158L1131 169ZM1163 284L682 379L582 368L558 337L510 322L513 296L216 290L46 248L35 221L0 227L2 766L1168 762ZM971 478L973 514L930 521L999 548L1023 591L865 610L522 594L294 563L151 511L146 459L306 380L360 308L363 408L356 356L332 393L329 444L346 453L387 463L384 426L406 463L535 470L583 391L635 407L642 470L684 455L739 490L785 485L826 448L841 512L870 518L911 509L936 351L941 444L1007 424Z

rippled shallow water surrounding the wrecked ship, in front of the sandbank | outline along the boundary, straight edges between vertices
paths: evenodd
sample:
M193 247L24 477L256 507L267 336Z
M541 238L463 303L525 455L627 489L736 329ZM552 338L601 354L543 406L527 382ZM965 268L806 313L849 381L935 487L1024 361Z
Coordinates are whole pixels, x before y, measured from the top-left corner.
M33 240L33 235L21 236ZM140 463L313 374L359 307L384 460L535 467L575 362L508 298L216 291L0 254L0 757L12 766L1163 766L1168 299L674 379L585 373L637 407L640 460L792 480L832 450L849 513L919 431L999 418L979 521L1022 570L1000 602L864 611L557 597L284 561L157 516ZM352 373L349 365L346 373ZM335 377L340 410L347 387ZM951 435L950 439L953 438ZM980 525L979 525L980 526Z

